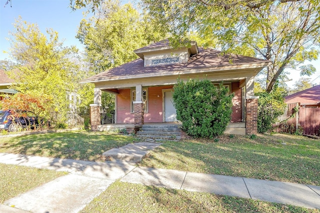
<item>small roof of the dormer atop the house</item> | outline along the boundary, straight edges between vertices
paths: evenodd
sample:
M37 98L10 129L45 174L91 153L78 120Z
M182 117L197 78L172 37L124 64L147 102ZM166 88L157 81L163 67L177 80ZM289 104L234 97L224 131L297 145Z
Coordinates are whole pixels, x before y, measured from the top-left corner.
M196 42L190 41L189 44L190 44L190 47L188 48L188 50L190 51L190 54L194 55L194 54L198 53L198 46L197 46ZM185 47L182 47L182 48L185 48ZM152 43L148 46L144 46L139 49L133 50L133 52L135 54L137 54L141 59L143 59L144 53L152 53L155 51L159 51L159 50L163 51L163 50L168 50L168 49L174 49L174 48L172 48L172 46L170 46L169 39L164 39L162 41ZM176 48L176 49L179 49L179 48Z

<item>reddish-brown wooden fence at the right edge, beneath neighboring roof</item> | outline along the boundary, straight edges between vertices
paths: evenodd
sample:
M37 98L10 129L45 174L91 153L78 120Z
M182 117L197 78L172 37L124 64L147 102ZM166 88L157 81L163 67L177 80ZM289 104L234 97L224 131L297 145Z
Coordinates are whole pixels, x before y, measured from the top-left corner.
M298 107L299 110L291 116L294 107ZM278 121L273 124L273 130L276 132L292 134L298 130L303 135L320 136L320 105L288 104L283 115L278 117Z

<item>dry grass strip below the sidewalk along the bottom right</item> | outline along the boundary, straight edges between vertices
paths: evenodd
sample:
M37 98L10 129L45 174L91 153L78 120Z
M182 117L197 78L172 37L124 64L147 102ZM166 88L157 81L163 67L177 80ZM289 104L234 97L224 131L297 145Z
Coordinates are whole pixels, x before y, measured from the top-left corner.
M320 213L319 210L115 182L80 213Z

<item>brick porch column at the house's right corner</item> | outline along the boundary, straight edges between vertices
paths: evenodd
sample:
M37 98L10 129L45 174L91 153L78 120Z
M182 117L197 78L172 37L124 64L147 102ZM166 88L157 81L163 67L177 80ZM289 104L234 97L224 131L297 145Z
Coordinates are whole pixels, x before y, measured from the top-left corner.
M247 96L245 99L246 135L252 135L257 133L258 98L259 96Z

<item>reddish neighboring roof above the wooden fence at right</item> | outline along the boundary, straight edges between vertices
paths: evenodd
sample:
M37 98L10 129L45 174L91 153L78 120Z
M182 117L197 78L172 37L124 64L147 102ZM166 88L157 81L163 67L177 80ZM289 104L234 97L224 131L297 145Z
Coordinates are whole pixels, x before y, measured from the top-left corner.
M285 103L320 104L320 85L284 97Z

